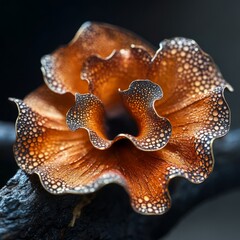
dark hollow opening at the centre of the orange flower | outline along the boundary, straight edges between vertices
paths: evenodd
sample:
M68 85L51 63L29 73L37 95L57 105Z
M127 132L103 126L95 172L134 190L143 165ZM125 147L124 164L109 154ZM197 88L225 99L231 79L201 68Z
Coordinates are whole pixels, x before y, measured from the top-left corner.
M136 121L124 108L117 108L118 111L111 111L106 117L106 134L109 139L114 139L120 133L137 136L139 129Z

